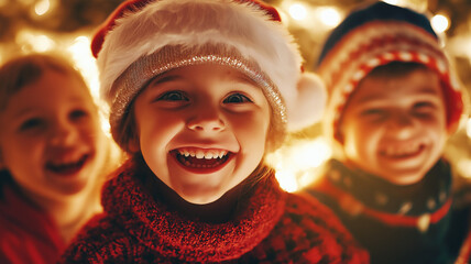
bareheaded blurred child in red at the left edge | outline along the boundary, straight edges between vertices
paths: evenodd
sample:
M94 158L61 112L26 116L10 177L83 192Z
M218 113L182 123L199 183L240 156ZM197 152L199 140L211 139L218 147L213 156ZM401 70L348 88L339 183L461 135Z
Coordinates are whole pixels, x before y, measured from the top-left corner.
M0 67L0 263L55 263L101 210L117 161L81 75L57 54Z

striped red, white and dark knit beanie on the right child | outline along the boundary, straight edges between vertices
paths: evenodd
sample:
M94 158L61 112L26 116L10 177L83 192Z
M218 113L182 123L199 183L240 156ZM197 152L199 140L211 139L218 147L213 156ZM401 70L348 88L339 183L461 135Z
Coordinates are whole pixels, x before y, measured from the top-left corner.
M442 82L449 131L458 127L463 102L440 40L428 18L383 1L350 13L328 36L318 59L318 74L328 90L325 129L340 141L339 121L349 97L375 67L414 62L438 73Z

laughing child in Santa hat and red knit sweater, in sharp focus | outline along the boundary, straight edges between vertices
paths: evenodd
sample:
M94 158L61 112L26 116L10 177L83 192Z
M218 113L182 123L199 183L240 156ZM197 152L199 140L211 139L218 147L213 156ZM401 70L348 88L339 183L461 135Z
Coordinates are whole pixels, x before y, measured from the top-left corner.
M329 209L283 191L263 161L325 99L274 8L130 0L92 51L131 158L64 263L368 262Z

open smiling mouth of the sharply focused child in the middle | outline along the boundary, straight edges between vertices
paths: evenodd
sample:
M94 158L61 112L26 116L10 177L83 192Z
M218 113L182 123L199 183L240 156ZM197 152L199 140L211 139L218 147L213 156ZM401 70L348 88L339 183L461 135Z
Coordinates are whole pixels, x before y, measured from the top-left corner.
M231 156L231 153L224 150L183 147L172 152L182 166L191 170L217 170Z

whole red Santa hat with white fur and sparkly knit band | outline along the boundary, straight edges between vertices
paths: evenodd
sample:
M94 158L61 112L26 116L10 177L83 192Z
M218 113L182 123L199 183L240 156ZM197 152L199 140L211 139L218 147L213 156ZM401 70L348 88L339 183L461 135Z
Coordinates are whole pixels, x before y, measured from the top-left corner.
M289 130L320 120L324 84L303 58L276 9L256 0L128 0L96 33L91 50L118 144L129 106L155 76L198 64L233 67L263 90L271 108L271 148Z

